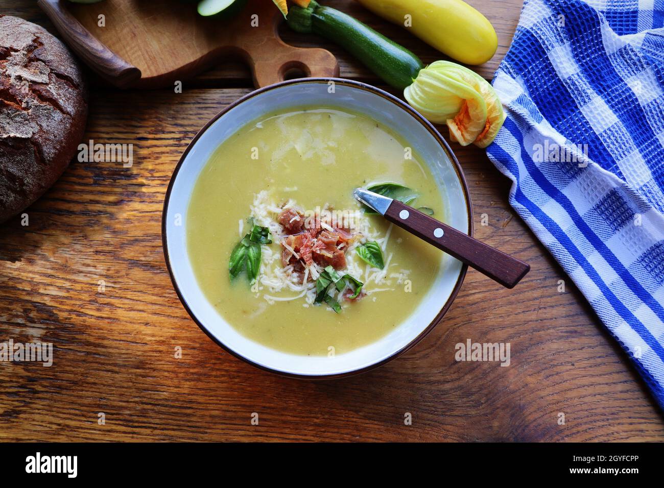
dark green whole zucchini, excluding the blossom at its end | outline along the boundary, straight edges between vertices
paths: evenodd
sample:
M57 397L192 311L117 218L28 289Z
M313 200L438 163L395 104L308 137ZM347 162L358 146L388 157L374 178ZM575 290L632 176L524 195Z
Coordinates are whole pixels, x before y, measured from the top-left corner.
M408 49L350 15L314 0L306 9L290 7L286 21L295 32L314 33L336 42L394 88L410 86L424 68L420 58Z

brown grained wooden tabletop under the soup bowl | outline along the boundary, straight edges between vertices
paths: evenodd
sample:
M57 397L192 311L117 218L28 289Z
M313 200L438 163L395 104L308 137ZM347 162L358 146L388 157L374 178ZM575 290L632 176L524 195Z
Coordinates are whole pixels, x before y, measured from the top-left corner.
M327 3L425 62L440 57L359 5ZM499 33L499 52L479 70L490 78L521 2L470 3ZM32 1L0 0L0 12L55 32ZM328 42L288 31L284 37L329 48L341 76L380 85ZM251 90L248 70L235 64L212 70L185 82L181 94L92 84L85 139L133 143L134 163L74 162L29 209L29 226L15 218L0 227L0 341L54 345L50 368L0 363L0 439L664 440L661 412L626 355L515 216L509 181L475 147L455 147L475 206L475 236L532 266L514 291L469 272L452 309L422 343L352 378L281 378L228 355L173 291L161 250L161 208L193 135ZM488 226L480 225L483 214ZM511 366L457 363L455 345L467 339L511 343ZM258 425L251 424L254 412ZM404 424L407 412L412 425Z

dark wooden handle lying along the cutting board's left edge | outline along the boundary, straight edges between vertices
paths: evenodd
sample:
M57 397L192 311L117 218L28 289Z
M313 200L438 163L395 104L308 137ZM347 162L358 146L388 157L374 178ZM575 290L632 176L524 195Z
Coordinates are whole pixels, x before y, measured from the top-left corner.
M37 1L37 5L48 15L69 47L94 72L118 88L126 88L141 78L141 70L99 42L62 3L64 0Z

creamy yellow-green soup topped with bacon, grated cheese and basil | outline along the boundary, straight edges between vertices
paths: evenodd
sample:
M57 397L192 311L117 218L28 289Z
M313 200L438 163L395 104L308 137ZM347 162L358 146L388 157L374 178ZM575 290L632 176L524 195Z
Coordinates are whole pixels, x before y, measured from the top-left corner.
M303 108L226 139L187 211L189 259L208 301L242 335L299 355L345 353L398 327L443 254L371 214L356 187L445 220L428 167L361 114Z

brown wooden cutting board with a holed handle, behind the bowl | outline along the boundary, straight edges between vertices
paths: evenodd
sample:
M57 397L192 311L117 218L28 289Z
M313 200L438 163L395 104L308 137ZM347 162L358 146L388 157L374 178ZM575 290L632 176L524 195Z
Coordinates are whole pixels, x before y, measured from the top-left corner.
M186 0L38 3L70 48L120 88L173 86L231 58L250 66L256 87L293 72L339 76L331 52L289 46L280 39L277 30L284 17L272 0L248 0L227 20L201 17L197 3Z

